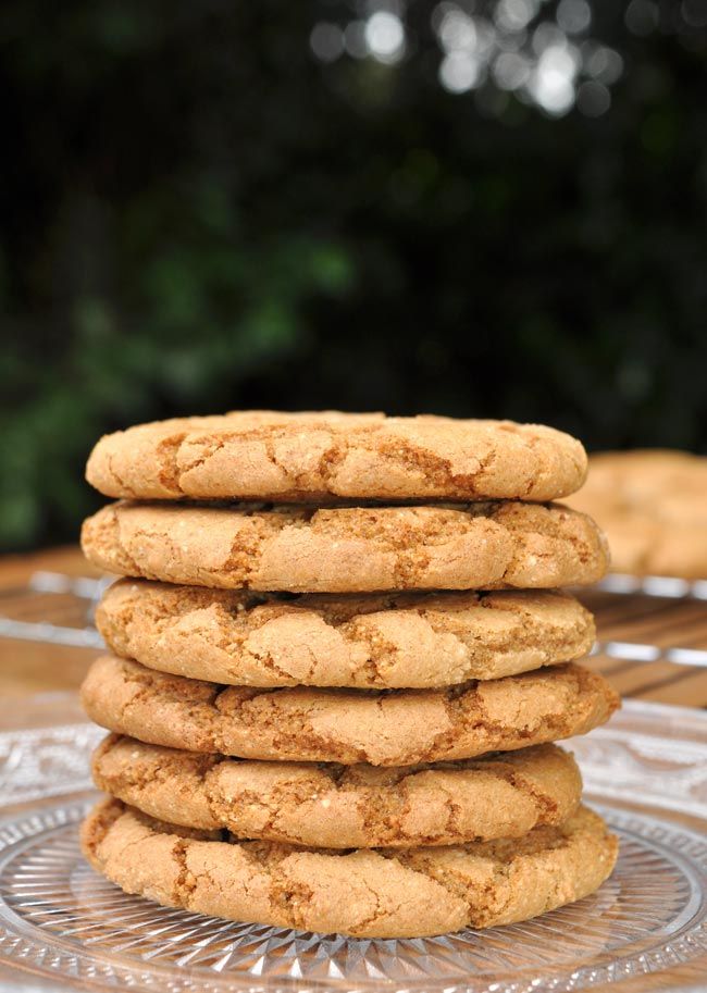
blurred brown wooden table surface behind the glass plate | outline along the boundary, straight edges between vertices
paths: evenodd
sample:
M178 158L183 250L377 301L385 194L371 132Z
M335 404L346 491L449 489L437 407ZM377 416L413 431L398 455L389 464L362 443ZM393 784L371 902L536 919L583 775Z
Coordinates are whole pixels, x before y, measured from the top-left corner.
M98 573L82 557L78 548L59 548L28 556L0 559L0 615L27 616L26 584L40 572L70 576L94 576ZM587 591L582 599L596 613L601 641L649 642L650 644L687 644L707 648L707 601L670 603L643 596L621 596ZM35 594L32 619L65 616L75 622L77 609L71 597ZM42 617L44 612L44 617ZM79 685L91 659L99 649L51 645L0 637L0 694L26 696L51 690L71 690ZM587 660L603 672L624 696L707 707L707 668L677 665L670 661L631 661L605 655Z

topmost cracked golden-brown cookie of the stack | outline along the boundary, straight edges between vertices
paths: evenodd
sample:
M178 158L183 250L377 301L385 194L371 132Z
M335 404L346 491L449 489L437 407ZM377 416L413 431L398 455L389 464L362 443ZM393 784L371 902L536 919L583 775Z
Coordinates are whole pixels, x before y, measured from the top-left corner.
M86 468L107 496L161 500L544 501L585 475L582 445L542 424L266 410L139 424Z

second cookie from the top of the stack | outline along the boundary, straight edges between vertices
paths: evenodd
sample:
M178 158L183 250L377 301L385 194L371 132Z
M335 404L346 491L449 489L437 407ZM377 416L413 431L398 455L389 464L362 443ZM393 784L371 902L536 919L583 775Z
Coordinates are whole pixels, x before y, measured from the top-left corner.
M234 507L117 502L84 522L88 560L193 586L367 593L593 583L604 538L558 504Z

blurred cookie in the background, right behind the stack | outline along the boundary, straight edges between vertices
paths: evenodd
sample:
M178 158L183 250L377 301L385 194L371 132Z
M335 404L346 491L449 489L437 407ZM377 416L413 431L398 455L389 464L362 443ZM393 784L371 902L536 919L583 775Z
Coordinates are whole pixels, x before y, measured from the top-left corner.
M592 457L572 506L606 530L615 572L707 578L707 459L635 450Z

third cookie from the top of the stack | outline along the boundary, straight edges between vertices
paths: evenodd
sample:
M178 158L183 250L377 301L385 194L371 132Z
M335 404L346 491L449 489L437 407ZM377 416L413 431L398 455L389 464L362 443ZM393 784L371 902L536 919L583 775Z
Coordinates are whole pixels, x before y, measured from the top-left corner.
M283 599L122 580L96 623L115 655L237 686L450 686L571 661L594 621L555 591Z

